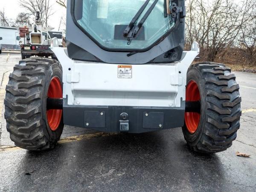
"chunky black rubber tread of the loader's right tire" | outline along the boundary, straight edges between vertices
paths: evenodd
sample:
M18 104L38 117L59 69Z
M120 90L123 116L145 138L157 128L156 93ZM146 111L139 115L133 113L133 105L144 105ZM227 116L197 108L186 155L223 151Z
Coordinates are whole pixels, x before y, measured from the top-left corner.
M201 139L196 145L187 143L192 150L202 153L225 151L236 140L240 128L241 96L236 76L224 64L205 62L193 67L205 81L207 114L206 119L201 119L205 122Z

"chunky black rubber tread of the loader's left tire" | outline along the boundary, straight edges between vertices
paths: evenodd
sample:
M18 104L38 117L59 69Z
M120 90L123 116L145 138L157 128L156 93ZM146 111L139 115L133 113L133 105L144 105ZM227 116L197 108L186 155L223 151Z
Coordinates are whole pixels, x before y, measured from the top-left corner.
M27 58L26 66L15 65L6 86L6 128L15 145L32 151L53 148L42 128L42 94L46 71L58 61L47 58ZM60 66L61 67L61 66ZM59 139L59 138L58 138Z

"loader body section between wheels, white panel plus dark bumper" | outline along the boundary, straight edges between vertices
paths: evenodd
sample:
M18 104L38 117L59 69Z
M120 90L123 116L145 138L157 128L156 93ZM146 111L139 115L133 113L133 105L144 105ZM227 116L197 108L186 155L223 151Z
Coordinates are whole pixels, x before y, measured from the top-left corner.
M122 132L120 115L127 113L129 133L183 126L186 74L199 53L197 43L180 62L169 64L76 61L66 49L52 50L63 68L64 124Z

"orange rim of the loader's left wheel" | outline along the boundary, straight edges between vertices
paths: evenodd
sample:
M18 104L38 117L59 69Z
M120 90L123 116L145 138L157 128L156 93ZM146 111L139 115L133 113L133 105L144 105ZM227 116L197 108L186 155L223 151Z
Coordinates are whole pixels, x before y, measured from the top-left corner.
M62 98L62 86L58 77L52 78L48 88L47 96L49 98ZM56 131L61 123L62 110L50 109L47 111L47 121L50 129Z

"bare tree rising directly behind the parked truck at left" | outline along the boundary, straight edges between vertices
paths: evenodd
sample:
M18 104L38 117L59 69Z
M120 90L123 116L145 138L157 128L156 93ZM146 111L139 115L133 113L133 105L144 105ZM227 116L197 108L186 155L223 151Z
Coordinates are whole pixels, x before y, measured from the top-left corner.
M45 26L48 25L47 21L49 17L53 15L50 0L20 0L20 6L25 8L29 12L29 15L35 15L39 11L42 24Z

